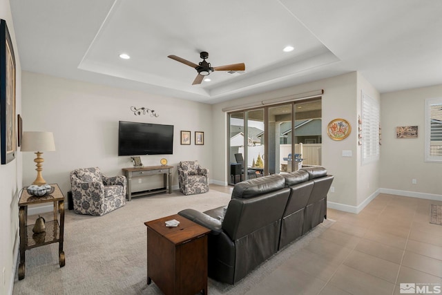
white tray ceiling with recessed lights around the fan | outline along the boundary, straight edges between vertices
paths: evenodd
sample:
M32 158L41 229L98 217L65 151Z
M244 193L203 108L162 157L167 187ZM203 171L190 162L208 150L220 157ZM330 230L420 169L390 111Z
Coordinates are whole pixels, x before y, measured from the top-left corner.
M440 0L10 1L22 70L214 104L358 70L381 93L442 82ZM282 52L287 45L291 53ZM244 62L191 85L195 64ZM131 59L119 58L120 53Z

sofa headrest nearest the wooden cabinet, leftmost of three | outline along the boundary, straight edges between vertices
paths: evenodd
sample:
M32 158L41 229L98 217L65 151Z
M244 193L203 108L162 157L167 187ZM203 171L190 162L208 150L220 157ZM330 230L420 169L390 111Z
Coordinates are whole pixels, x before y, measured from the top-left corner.
M262 176L245 180L235 185L232 191L232 198L254 198L263 193L270 193L285 187L285 178L279 174Z

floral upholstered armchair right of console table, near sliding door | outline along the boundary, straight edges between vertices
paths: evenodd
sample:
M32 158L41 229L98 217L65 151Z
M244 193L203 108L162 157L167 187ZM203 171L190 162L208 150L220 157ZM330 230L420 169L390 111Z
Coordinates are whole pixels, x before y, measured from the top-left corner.
M209 169L202 168L198 161L183 161L178 164L178 182L184 195L209 191Z

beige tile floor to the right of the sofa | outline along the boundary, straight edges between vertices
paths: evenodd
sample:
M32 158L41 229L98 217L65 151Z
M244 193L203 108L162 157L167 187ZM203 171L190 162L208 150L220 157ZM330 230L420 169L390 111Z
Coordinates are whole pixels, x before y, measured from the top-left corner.
M442 202L381 193L359 214L328 209L334 225L247 294L382 295L401 294L400 283L442 285L442 225L430 224L430 204Z

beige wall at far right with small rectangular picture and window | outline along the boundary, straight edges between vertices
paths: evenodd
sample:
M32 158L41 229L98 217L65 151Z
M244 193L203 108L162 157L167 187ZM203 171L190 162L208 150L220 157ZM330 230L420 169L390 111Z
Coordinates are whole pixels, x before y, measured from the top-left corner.
M380 187L387 192L442 200L442 164L424 155L425 99L433 97L442 97L442 85L381 95ZM418 126L418 137L396 139L396 126Z

